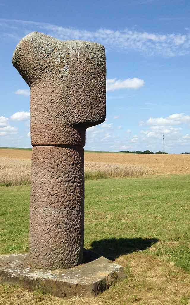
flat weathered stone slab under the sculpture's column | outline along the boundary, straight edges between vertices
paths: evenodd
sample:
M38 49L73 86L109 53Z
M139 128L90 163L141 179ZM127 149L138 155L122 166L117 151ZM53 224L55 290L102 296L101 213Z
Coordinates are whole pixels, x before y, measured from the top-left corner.
M70 269L43 270L29 266L28 254L0 256L0 281L59 297L97 296L124 278L123 267L105 257Z

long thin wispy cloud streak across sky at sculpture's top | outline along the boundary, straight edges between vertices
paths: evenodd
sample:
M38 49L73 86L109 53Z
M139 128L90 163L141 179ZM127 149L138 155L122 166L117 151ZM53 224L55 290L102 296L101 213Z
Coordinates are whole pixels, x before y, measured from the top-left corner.
M141 1L141 3L147 1ZM148 1L150 2L150 1ZM98 29L96 31L61 27L49 23L0 19L2 36L22 38L31 31L42 31L58 39L81 39L96 41L106 48L133 49L148 55L177 56L190 53L190 33L148 33L128 28L123 30ZM16 28L14 28L16 26Z

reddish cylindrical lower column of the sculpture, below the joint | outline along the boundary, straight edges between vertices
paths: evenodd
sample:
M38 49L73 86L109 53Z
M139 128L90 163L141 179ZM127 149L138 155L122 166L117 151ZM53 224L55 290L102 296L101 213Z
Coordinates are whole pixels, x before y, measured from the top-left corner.
M34 267L62 269L81 264L83 147L33 147L29 231L29 258Z

